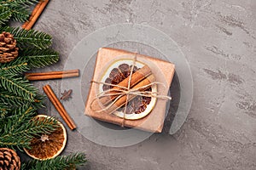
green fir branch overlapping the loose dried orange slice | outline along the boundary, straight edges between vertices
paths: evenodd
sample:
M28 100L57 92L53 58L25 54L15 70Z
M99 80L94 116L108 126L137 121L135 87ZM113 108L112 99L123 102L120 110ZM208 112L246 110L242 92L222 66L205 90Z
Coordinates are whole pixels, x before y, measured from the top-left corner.
M3 133L0 134L1 147L30 148L31 140L41 133L51 133L58 126L54 119L33 120L36 115L32 107L19 108L13 116L0 119Z

